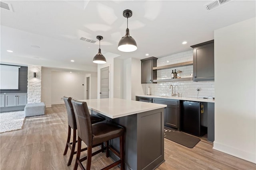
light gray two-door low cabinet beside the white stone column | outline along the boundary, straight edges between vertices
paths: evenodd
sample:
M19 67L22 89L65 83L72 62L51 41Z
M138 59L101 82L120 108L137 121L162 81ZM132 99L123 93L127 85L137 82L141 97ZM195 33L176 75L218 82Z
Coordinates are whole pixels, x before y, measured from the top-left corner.
M5 94L5 107L25 106L26 104L27 94Z

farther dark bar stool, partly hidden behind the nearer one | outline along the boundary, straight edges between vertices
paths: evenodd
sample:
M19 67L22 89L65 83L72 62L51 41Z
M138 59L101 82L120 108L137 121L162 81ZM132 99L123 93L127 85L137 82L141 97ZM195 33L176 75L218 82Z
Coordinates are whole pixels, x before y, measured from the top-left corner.
M68 114L68 139L66 142L66 147L65 147L63 155L66 155L68 148L70 148L71 152L70 152L70 157L69 157L68 164L67 164L68 166L70 166L73 156L74 156L74 154L76 154L76 151L75 151L76 142L77 142L77 140L76 140L76 129L77 129L76 117L75 117L74 109L73 109L73 106L71 103L72 98L64 96L63 100L66 104L66 109L67 109L67 114ZM102 118L98 115L92 115L92 114L90 115L90 119L91 119L92 123L97 123L97 122L105 120L104 118ZM71 129L73 129L73 142L70 143ZM102 148L103 148L103 143L102 143ZM82 151L83 150L86 150L86 149L82 149Z

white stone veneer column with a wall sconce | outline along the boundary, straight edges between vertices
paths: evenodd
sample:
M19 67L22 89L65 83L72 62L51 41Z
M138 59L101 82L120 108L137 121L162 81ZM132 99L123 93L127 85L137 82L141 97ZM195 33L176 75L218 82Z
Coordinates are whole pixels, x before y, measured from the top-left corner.
M41 102L41 70L42 66L28 65L28 103Z

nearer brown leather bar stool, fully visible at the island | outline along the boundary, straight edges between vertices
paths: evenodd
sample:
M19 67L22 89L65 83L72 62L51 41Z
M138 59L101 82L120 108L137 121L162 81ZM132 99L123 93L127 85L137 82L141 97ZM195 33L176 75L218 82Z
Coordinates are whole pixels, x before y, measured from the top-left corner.
M106 166L104 170L108 170L121 164L121 170L124 170L124 127L111 123L110 121L101 121L91 124L90 113L86 102L78 102L72 99L74 113L76 116L77 132L78 132L78 149L76 154L76 164L74 170L77 170L78 165L81 169L85 170L82 161L87 160L86 170L90 170L92 156L102 152L106 149L106 157L108 157L109 149L120 158L120 160ZM120 138L120 152L116 151L108 145L108 141L114 138ZM80 158L81 142L87 145L87 156ZM106 147L101 148L92 153L92 148L106 142Z

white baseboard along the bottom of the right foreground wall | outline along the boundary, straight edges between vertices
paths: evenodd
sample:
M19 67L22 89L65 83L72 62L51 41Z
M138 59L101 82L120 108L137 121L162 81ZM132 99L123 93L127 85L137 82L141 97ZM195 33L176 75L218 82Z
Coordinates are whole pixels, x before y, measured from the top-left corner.
M256 163L256 153L253 152L233 148L228 145L217 143L216 141L213 142L213 149Z

